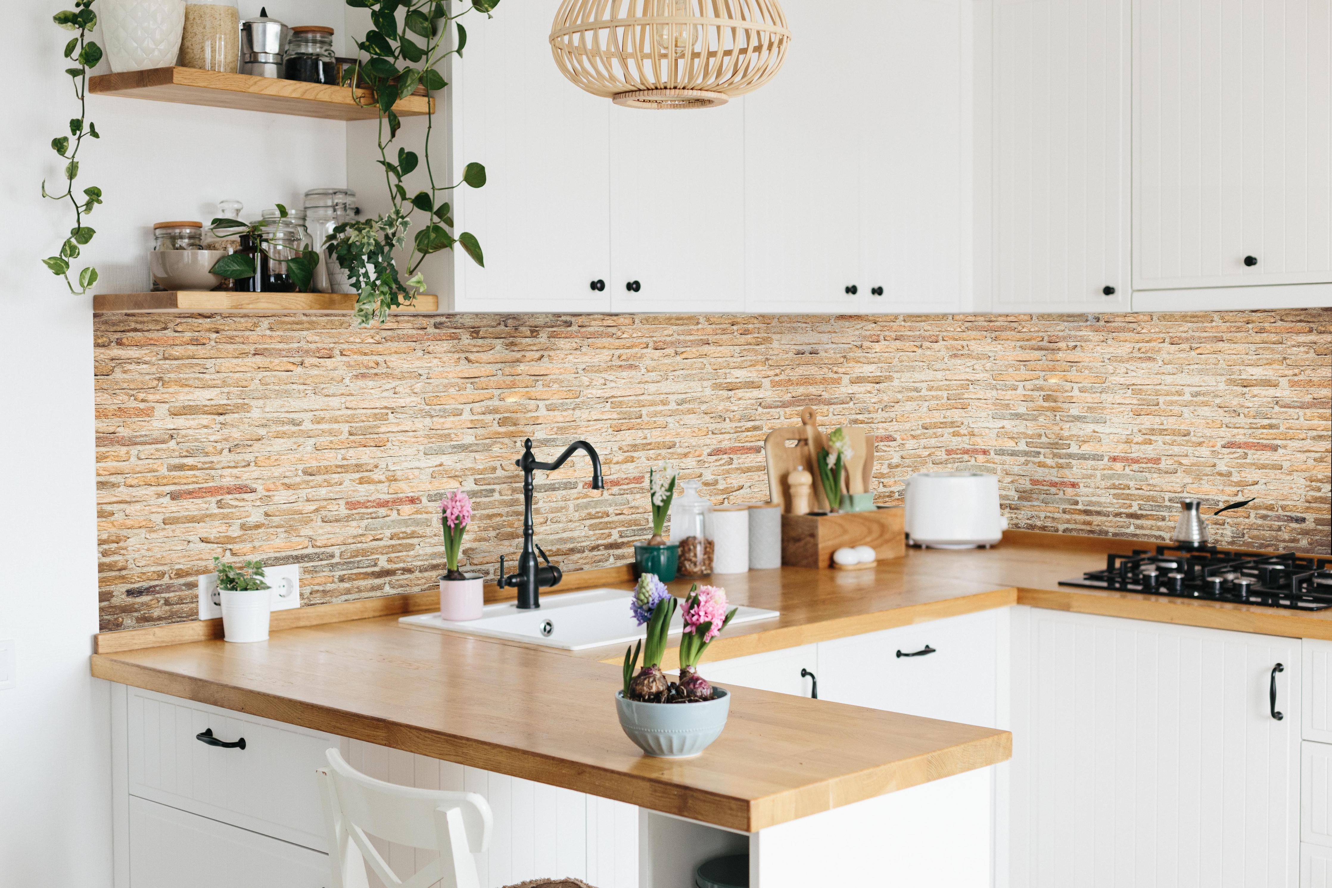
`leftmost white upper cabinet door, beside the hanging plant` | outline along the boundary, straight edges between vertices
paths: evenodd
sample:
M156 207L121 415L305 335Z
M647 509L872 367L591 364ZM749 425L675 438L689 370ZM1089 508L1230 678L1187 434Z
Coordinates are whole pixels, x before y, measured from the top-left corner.
M488 173L485 188L450 192L457 230L474 233L486 260L457 250L460 312L610 309L610 101L555 68L545 5L469 25L453 65L453 181L470 161Z

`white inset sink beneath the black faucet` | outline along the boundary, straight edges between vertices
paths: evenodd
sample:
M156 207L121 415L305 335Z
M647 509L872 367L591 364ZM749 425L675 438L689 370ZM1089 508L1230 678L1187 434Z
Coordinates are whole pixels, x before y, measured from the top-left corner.
M633 592L622 588L590 588L585 592L542 595L541 607L531 611L519 611L517 604L509 602L488 604L485 615L474 620L453 622L434 612L404 616L398 622L582 651L605 644L627 644L634 639L646 638L647 627L638 626L629 610L633 596ZM778 611L741 607L731 619L731 626L773 619L778 615ZM670 632L679 635L683 628L685 618L677 610Z

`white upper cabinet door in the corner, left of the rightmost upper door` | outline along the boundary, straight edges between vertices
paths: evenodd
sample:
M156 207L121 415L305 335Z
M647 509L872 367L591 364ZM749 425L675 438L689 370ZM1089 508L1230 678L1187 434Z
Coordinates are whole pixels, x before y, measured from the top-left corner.
M1130 3L992 5L994 312L1130 305Z

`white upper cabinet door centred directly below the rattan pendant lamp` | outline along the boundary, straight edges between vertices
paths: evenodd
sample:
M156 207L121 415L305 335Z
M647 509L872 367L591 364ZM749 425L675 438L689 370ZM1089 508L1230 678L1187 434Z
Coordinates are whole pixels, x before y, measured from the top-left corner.
M743 206L745 99L661 113L611 107L611 310L743 310Z

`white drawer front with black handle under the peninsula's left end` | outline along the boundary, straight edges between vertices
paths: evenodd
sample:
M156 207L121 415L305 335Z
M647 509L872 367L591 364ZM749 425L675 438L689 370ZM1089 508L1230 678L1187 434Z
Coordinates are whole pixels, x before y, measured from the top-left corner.
M127 715L129 795L328 851L314 770L337 736L140 688Z

